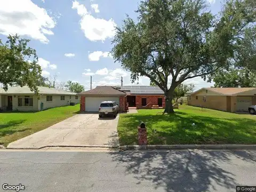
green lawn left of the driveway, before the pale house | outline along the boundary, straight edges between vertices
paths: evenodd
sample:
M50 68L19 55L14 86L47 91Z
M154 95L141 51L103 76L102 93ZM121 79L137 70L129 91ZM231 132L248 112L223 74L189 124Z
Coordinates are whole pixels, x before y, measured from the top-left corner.
M41 131L79 113L79 104L47 109L39 112L0 113L0 145Z

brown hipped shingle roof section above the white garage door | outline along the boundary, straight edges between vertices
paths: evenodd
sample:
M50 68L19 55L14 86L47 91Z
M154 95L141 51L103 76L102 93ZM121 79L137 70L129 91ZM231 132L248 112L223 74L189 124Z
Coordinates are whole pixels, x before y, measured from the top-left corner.
M80 95L126 95L126 93L115 89L114 86L97 86L95 89L78 93Z

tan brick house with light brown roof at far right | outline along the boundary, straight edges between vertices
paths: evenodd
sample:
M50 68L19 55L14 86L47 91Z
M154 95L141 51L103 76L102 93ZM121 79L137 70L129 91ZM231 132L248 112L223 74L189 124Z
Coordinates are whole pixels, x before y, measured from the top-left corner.
M188 105L228 112L248 111L256 105L256 87L202 88L188 96Z

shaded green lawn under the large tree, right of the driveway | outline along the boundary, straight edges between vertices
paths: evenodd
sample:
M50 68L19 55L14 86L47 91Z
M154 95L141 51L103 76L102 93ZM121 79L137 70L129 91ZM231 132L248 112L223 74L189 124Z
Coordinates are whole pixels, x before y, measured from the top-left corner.
M175 112L163 115L161 109L141 109L138 114L121 114L118 122L121 145L138 145L137 126L141 121L147 126L149 145L256 144L255 115L183 105Z

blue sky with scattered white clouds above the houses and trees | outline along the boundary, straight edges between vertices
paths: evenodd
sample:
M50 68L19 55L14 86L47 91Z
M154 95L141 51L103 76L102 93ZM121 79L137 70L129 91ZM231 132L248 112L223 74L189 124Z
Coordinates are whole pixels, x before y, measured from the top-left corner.
M131 85L130 73L114 63L108 52L114 27L121 26L125 14L136 19L139 0L2 0L0 1L0 39L18 33L31 39L44 76L58 76L58 82L76 81L86 88L97 85ZM220 2L209 1L213 13ZM138 85L149 85L141 77ZM213 85L201 77L190 79L195 90ZM137 85L137 82L135 83Z

